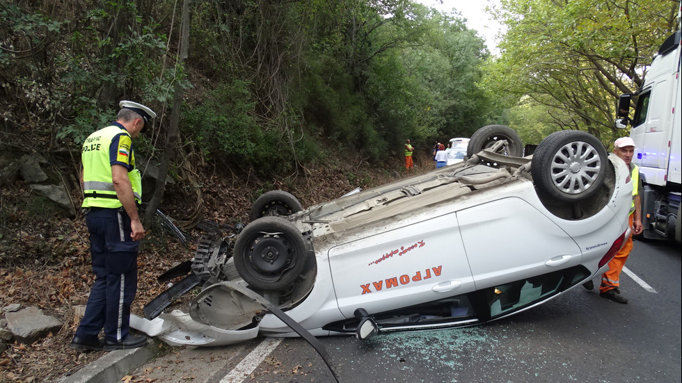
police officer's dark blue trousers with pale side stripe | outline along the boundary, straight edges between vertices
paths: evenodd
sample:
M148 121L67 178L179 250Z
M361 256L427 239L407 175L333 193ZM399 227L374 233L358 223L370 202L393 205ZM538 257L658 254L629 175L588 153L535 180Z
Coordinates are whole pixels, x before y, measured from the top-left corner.
M106 339L122 341L128 336L130 304L137 291L139 241L130 238L130 218L123 209L92 208L86 224L95 284L76 336L93 339L104 327Z

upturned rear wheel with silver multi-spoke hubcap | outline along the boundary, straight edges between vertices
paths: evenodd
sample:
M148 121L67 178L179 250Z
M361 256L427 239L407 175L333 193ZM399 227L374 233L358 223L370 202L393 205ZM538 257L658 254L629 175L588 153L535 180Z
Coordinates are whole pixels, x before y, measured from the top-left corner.
M560 202L577 202L597 193L604 182L608 154L585 131L556 131L537 146L530 164L540 193Z

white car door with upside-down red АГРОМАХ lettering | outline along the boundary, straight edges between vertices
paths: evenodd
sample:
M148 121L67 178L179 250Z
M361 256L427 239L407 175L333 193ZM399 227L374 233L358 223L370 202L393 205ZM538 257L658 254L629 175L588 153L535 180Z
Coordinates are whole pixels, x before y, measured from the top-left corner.
M454 212L332 247L329 263L340 311L379 313L474 288Z

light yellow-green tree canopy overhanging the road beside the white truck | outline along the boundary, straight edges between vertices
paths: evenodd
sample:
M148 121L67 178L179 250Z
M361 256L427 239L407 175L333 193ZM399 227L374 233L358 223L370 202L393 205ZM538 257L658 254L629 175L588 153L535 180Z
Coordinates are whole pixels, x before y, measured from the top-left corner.
M608 140L615 100L641 85L678 8L659 0L502 0L497 17L508 31L486 88L515 101L530 97L554 129Z

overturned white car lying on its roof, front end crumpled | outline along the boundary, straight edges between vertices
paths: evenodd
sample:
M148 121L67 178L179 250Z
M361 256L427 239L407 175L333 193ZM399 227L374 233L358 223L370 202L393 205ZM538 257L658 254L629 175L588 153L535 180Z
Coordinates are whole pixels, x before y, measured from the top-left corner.
M509 316L608 267L632 184L599 140L559 131L520 157L518 135L495 125L468 149L456 165L308 209L264 194L235 236L200 243L168 293L202 284L189 312L156 304L132 326L172 345L297 336L299 325L364 339Z

